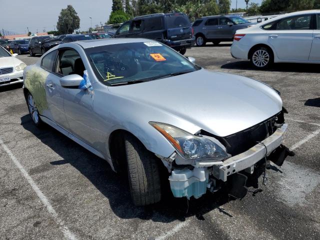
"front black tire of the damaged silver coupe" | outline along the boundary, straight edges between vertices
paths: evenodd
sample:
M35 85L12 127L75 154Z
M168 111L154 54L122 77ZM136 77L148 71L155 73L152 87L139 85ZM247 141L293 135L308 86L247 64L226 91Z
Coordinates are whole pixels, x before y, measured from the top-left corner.
M134 136L124 136L131 199L136 206L161 199L159 159Z

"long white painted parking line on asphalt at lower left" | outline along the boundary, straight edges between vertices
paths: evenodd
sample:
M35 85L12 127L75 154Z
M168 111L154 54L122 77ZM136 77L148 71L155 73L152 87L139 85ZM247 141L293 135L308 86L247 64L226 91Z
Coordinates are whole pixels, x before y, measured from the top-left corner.
M0 145L6 151L6 153L11 158L11 160L13 161L15 166L20 170L22 175L25 177L25 179L30 184L32 189L35 191L37 196L40 198L43 205L46 207L47 211L52 215L55 222L59 225L59 228L62 231L65 238L70 239L70 240L76 240L77 238L75 237L75 235L68 229L67 226L64 225L63 221L59 218L58 214L53 209L52 205L50 204L50 202L48 201L46 196L41 192L41 190L36 185L36 183L33 181L31 176L27 173L27 171L24 169L24 167L21 165L21 163L16 159L16 157L13 155L11 150L3 143L3 141L1 139L0 139Z

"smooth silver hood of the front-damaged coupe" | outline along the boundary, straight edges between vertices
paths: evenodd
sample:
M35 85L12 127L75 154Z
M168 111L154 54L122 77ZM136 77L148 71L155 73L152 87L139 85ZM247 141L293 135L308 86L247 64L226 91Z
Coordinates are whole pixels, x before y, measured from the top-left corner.
M268 85L243 76L204 69L148 82L109 86L108 89L132 100L132 104L140 102L164 110L173 116L172 119L182 118L217 136L246 129L282 109L280 96ZM158 121L153 115L147 120ZM168 119L165 123L174 125L175 122Z

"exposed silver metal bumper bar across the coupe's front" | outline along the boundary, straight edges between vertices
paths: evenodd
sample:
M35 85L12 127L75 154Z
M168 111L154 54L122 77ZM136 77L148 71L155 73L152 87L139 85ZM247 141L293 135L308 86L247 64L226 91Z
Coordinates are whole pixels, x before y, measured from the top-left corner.
M282 136L286 129L287 124L283 124L281 127L276 129L272 135L261 141L266 146L267 155L281 144L283 140ZM262 144L256 144L247 151L232 156L223 162L198 161L195 163L195 167L213 166L213 176L222 181L226 181L228 175L252 167L256 162L264 157L264 154L265 147Z

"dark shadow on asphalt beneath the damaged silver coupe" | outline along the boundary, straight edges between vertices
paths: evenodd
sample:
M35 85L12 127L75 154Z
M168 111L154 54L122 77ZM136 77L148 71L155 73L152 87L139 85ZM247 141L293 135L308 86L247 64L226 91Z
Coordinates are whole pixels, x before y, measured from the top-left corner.
M232 200L224 193L214 193L214 195L207 193L198 199L187 200L173 197L170 189L167 189L160 202L143 207L135 206L130 199L126 174L115 173L105 160L95 156L52 127L44 125L43 129L37 128L29 115L21 117L21 125L62 158L62 160L49 162L52 167L71 164L108 198L112 211L120 218L140 218L155 222L184 221L186 217L193 215L202 219L203 214L215 208L232 216L221 207ZM82 187L85 191L87 186L81 185L85 183L79 181L78 184L79 188Z

